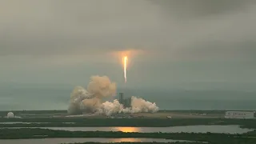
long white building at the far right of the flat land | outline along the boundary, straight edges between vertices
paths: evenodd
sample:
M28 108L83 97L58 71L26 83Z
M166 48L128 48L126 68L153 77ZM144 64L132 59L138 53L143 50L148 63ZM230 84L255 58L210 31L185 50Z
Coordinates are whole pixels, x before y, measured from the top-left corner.
M250 119L250 118L254 118L254 112L250 112L250 111L226 111L225 118Z

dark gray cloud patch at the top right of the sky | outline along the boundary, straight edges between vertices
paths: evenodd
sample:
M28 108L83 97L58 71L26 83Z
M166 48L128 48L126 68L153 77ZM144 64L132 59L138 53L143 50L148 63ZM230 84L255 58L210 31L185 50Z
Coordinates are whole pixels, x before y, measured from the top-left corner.
M167 14L176 15L180 18L202 18L218 14L237 13L245 11L254 0L161 0L152 3L162 6Z

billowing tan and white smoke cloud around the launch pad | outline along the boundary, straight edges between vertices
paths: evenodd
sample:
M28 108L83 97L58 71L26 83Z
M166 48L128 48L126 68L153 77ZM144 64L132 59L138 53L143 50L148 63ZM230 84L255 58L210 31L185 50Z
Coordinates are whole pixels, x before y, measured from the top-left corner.
M117 99L114 102L103 102L102 98L113 97L116 94L116 84L110 78L93 76L90 78L87 90L76 86L70 96L68 114L118 114L158 111L155 103L147 102L142 98L131 98L131 106L124 108Z

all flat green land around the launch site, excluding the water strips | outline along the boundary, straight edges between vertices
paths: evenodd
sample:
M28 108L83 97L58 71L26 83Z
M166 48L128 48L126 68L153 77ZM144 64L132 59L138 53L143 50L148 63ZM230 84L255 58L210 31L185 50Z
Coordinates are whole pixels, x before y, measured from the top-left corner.
M226 119L225 110L160 110L158 113L114 114L111 117L99 114L68 116L66 110L21 110L12 111L19 118L5 118L8 111L0 111L0 139L29 138L167 138L208 142L209 144L254 144L256 133L135 133L103 131L49 130L31 127L166 127L198 125L238 125L256 129L256 119ZM7 123L8 124L7 124ZM18 127L10 129L10 127ZM23 128L22 128L23 127ZM26 128L25 128L26 127ZM197 141L197 142L195 142ZM186 143L186 142L185 142ZM185 144L184 143L184 144Z

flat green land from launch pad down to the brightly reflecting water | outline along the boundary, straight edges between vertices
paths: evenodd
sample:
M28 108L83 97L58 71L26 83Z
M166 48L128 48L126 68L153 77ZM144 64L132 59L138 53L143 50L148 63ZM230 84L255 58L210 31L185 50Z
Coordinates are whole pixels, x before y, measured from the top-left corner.
M239 125L256 128L256 119L226 119L224 110L160 110L158 113L99 114L68 116L66 110L13 111L19 118L4 118L0 112L0 127L79 127L79 126L136 126L166 127L195 125ZM6 124L6 122L10 122Z

